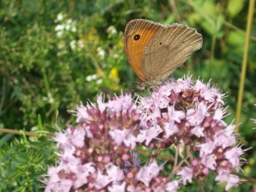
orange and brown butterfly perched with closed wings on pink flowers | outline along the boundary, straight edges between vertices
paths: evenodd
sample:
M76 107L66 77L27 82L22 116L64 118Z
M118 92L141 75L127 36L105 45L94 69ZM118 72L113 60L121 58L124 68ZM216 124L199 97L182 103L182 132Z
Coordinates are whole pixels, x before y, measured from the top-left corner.
M183 24L135 19L126 25L124 51L139 77L136 88L155 87L202 47L202 35Z

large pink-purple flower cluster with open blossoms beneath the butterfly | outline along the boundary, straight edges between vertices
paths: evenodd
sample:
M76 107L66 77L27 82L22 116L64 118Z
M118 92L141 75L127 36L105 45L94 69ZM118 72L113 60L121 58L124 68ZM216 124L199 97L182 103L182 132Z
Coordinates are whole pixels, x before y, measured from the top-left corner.
M237 187L243 150L223 121L225 94L187 76L148 95L78 106L76 125L55 137L59 164L45 191L177 191L193 180L203 188L210 172L226 190Z

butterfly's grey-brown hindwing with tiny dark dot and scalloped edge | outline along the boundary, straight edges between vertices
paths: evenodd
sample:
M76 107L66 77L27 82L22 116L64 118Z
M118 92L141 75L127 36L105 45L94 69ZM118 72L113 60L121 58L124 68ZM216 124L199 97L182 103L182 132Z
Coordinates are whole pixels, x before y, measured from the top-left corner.
M202 35L182 24L168 25L147 42L142 70L147 79L165 79L202 47Z

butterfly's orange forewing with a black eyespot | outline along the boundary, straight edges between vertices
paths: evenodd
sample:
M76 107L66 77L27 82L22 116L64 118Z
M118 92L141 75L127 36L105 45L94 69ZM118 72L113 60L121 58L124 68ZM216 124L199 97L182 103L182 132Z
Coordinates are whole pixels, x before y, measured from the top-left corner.
M142 71L142 58L147 42L165 26L150 20L135 19L126 25L124 31L124 51L134 70L141 81L146 80Z

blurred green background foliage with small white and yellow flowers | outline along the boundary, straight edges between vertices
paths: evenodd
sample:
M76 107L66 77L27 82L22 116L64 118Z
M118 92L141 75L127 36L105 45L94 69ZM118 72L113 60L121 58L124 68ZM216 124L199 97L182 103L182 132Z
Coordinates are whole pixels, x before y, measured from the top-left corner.
M74 123L79 102L95 101L104 87L129 91L137 77L123 51L123 32L135 18L196 28L203 47L173 76L211 79L227 92L226 118L236 115L249 1L111 0L0 1L0 128L47 133ZM255 14L254 14L255 15ZM256 174L256 25L253 18L241 113L246 179L233 191L253 188ZM140 94L140 92L138 92ZM55 165L54 143L45 136L0 135L0 191L43 191L39 180ZM255 181L255 180L254 180ZM208 187L215 185L209 178ZM194 184L182 191L198 191ZM218 186L224 191L224 185Z

